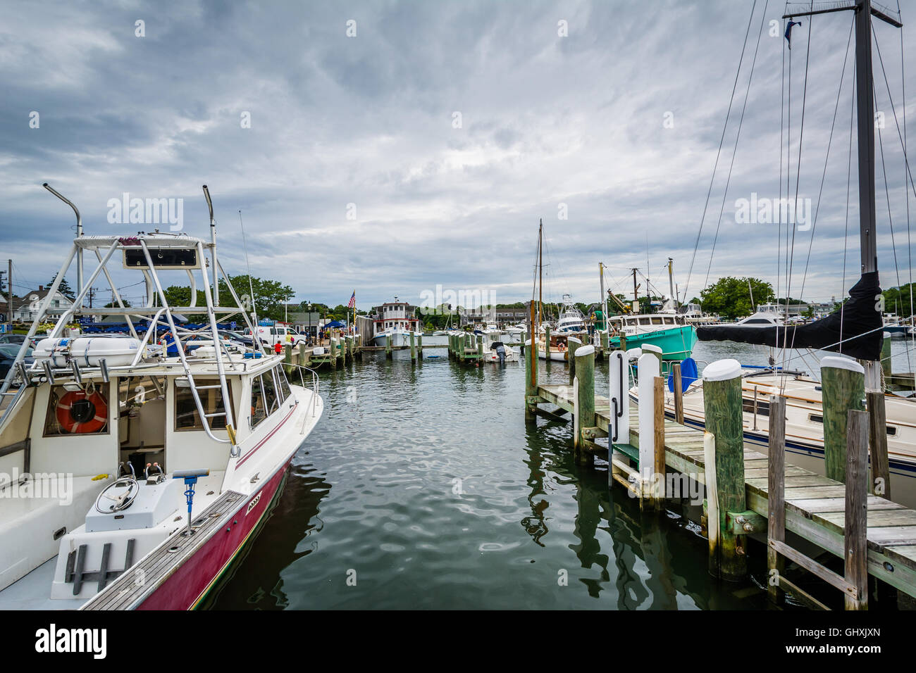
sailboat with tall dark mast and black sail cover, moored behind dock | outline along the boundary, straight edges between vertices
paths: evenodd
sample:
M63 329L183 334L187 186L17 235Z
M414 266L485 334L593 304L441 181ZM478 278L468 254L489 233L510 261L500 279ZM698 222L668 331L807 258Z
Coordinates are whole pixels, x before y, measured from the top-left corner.
M698 328L701 341L735 341L766 345L783 352L789 349L825 350L856 358L865 369L869 390L882 390L881 345L885 331L875 299L880 296L875 216L875 125L872 74L872 16L891 26L900 21L872 5L870 0L837 4L815 13L853 10L856 13L856 117L859 181L859 245L861 276L849 290L842 309L804 325L773 320L771 324L714 325ZM794 19L811 12L783 16ZM908 173L909 175L909 173ZM912 183L911 183L912 184ZM787 309L788 315L788 309ZM785 396L786 451L792 462L817 472L823 464L823 404L821 385L803 372L782 370L773 365L748 371L742 380L744 438L746 444L766 451L769 430L770 394ZM638 399L638 390L630 390ZM704 428L703 381L694 381L683 395L684 421ZM916 401L885 393L890 466L889 493L895 502L916 506ZM672 396L666 399L666 415L673 418Z

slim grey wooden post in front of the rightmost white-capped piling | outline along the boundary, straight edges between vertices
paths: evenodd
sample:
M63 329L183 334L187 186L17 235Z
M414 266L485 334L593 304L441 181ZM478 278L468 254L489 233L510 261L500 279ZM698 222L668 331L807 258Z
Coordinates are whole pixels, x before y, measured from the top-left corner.
M845 578L858 597L845 594L846 610L868 609L868 415L849 409L846 421Z

